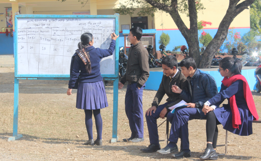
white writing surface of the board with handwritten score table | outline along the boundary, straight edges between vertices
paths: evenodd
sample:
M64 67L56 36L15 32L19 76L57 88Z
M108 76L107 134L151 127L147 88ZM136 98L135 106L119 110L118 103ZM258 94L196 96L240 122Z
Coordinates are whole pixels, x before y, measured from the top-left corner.
M19 75L68 75L81 34L92 33L93 46L108 49L115 32L115 18L18 18L16 25ZM101 74L116 74L115 52L100 65Z

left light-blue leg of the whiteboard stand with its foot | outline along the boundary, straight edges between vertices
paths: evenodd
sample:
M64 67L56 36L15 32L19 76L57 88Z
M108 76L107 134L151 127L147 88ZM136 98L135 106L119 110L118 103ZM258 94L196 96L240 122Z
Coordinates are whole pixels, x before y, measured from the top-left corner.
M17 79L15 77L13 137L8 138L8 141L15 141L16 139L23 137L23 135L17 134L17 131L18 131L18 99L19 99L19 79Z

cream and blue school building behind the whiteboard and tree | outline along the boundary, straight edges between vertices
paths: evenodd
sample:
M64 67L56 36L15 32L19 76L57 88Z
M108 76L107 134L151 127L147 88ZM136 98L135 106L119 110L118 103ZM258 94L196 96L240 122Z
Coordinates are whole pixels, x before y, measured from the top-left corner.
M12 19L14 13L20 12L21 14L91 14L91 15L108 15L115 14L114 9L123 3L125 0L89 0L78 2L78 0L66 0L65 2L57 0L2 0L0 2L0 55L14 54L13 37L10 36L10 29L13 29ZM211 26L207 26L204 31L208 32L212 37L217 32L217 28L222 18L226 14L229 5L227 0L209 1L201 0L206 8L203 13L198 14L198 21L204 20L211 22ZM124 47L124 36L122 35L123 29L130 29L131 27L141 27L143 29L156 29L155 45L159 50L158 41L162 32L168 33L171 42L168 44L166 50L172 51L174 46L187 45L185 39L181 35L178 27L169 14L165 12L156 12L154 17L143 16L139 17L137 12L141 10L137 8L135 13L130 15L120 15L119 29L119 47ZM181 15L184 23L189 27L189 19L185 14ZM239 14L230 27L234 27L241 35L250 30L250 12L244 10ZM6 29L9 35L6 36ZM201 31L198 32L199 36ZM152 44L153 45L153 44ZM1 64L1 63L0 63Z

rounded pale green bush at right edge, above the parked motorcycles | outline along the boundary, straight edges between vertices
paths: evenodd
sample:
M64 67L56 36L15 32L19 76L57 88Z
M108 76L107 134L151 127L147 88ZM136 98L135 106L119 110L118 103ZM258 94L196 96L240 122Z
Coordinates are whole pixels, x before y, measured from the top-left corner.
M253 48L257 46L255 36L259 35L258 31L250 30L245 33L242 37L242 42L247 46L247 48Z

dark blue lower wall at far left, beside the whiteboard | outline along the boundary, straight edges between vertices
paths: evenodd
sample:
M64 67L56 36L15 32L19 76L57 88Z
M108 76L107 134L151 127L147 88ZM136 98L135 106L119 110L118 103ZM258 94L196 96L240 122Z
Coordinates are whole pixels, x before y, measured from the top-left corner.
M0 55L14 54L14 38L6 34L0 34Z

